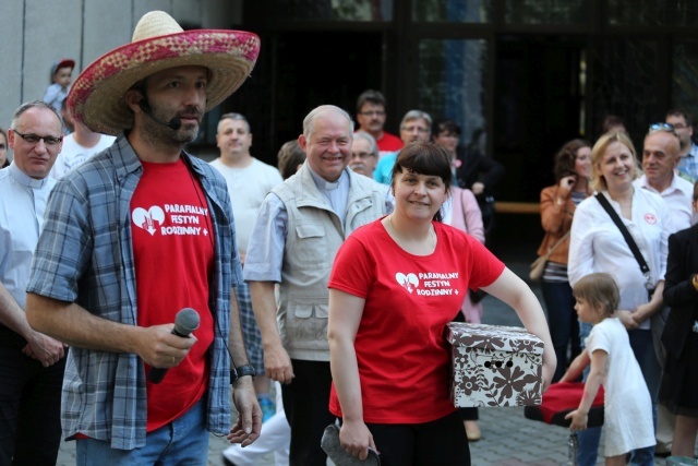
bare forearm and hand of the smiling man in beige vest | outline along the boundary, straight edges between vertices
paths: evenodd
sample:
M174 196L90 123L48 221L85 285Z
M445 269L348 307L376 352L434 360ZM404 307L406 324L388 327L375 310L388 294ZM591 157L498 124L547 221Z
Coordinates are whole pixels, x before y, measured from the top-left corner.
M264 346L264 372L280 383L291 383L293 367L276 323L274 282L250 282L250 295L254 318L260 327Z

